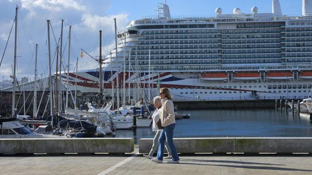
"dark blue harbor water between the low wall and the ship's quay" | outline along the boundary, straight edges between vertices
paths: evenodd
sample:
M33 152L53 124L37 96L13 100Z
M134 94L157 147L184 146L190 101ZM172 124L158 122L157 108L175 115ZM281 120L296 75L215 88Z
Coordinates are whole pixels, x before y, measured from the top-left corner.
M179 110L190 119L176 120L175 138L312 137L312 123L297 113L275 109ZM153 138L152 128L117 130L113 137ZM108 136L112 137L112 136Z

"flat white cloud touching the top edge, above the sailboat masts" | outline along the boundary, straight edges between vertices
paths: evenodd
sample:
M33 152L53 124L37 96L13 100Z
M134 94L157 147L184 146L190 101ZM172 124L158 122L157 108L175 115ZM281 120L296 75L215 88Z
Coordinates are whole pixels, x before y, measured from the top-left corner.
M34 8L41 8L50 11L62 11L65 9L75 9L78 11L86 11L84 5L79 4L75 0L20 0L21 6L30 11Z

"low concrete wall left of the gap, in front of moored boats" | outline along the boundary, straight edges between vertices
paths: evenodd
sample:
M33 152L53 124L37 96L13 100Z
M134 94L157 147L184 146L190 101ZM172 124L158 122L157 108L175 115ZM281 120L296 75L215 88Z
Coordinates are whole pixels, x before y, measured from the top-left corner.
M0 139L0 154L131 153L133 138Z

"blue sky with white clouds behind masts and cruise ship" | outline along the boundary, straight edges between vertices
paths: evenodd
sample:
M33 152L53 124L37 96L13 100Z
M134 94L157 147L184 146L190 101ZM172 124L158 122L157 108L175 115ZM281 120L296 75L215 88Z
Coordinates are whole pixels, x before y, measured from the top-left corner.
M78 70L97 68L98 63L87 54L80 58L80 49L93 57L99 54L99 30L102 30L102 55L115 48L114 18L117 30L125 30L126 24L146 16L156 16L157 3L164 0L0 0L0 59L19 6L17 77L34 79L35 44L38 46L38 76L48 75L47 20L51 21L52 72L56 71L56 46L63 29L63 61L68 64L68 33L71 29L70 70L74 70L78 57ZM232 14L239 7L242 13L251 13L253 6L258 13L272 12L272 0L167 0L172 16L215 16L215 8L223 14ZM280 0L283 15L302 13L302 0ZM65 46L66 45L66 46ZM2 78L10 79L14 60L14 27L0 66Z

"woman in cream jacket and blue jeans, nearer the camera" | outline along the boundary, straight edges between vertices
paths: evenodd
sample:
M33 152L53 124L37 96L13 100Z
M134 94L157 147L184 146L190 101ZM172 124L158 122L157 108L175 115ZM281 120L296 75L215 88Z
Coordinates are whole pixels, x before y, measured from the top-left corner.
M159 96L161 98L161 110L159 113L159 119L161 120L161 126L164 127L159 136L159 145L157 158L153 158L152 161L156 163L162 163L164 156L164 142L168 142L171 150L172 160L167 163L179 163L179 156L176 152L176 146L173 141L174 129L176 126L175 109L172 103L172 98L168 88L160 88Z

